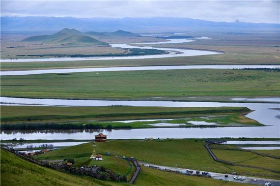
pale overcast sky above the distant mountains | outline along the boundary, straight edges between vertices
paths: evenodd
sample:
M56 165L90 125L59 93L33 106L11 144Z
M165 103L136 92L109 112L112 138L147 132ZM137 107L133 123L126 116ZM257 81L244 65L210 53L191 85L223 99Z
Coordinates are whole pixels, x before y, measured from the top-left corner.
M189 17L279 23L280 1L1 1L2 16Z

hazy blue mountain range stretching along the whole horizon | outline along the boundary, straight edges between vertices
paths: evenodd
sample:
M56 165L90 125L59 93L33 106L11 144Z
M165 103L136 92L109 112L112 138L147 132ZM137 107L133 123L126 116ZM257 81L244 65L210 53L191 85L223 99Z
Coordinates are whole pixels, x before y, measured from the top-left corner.
M118 29L132 32L153 30L181 31L190 29L279 29L280 24L247 22L214 22L191 18L74 18L74 17L1 17L1 29L6 32L54 32L65 27L74 27L83 32L112 32ZM122 33L117 33L122 34Z

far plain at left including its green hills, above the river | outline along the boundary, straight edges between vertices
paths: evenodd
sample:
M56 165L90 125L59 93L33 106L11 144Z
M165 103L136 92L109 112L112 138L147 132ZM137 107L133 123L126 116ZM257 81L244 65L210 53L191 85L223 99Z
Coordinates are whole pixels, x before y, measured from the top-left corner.
M30 35L32 36L28 37ZM82 33L65 28L50 35L34 35L38 34L3 34L1 58L143 55L149 54L149 50L135 53L129 49L113 48L108 43L164 41L159 38L138 37L137 34L123 30L112 33Z

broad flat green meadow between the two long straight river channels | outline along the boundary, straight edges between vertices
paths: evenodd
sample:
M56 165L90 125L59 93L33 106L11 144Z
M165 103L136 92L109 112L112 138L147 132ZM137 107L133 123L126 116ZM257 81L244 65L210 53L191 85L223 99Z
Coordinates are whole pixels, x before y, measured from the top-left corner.
M280 73L276 71L219 69L3 76L1 96L63 99L169 97L174 100L205 96L278 96L279 77Z

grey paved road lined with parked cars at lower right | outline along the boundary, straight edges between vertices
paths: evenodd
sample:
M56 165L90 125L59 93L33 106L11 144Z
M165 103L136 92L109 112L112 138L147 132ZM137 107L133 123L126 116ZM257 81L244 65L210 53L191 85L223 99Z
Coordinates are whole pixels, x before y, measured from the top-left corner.
M148 164L148 163L139 162L139 161L138 161L138 163L140 165L143 165L146 167L157 168L159 170L170 170L170 171L179 172L182 174L186 174L187 170L193 171L193 173L195 173L196 171L200 171L200 170L193 170L193 169L183 169L183 168L154 165L154 164ZM201 172L206 172L206 171L200 171L200 173ZM280 180L275 180L275 179L243 176L243 177L245 177L245 179L241 181L239 179L234 179L234 177L236 175L228 174L228 177L225 177L226 174L221 174L221 173L216 173L216 172L209 172L209 174L211 175L211 178L213 178L213 179L221 179L221 180L226 180L226 181L234 181L234 182L239 182L239 183L249 183L249 184L256 184L256 185L265 185L265 183L270 182L271 186L280 186ZM257 181L254 181L254 179L257 179Z

